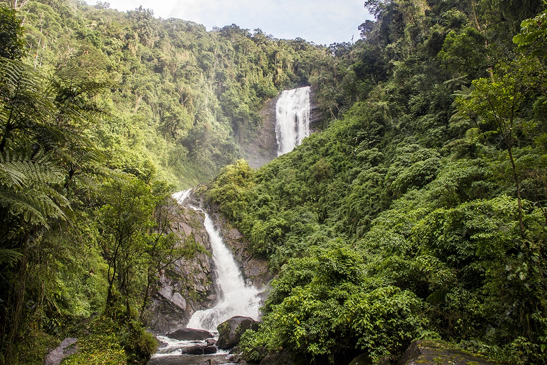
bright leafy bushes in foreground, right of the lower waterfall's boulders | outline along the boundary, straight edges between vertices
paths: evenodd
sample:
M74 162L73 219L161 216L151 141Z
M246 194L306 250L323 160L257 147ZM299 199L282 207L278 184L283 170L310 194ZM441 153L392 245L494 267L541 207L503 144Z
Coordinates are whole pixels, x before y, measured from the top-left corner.
M263 325L242 339L244 354L258 356L254 351L266 346L301 352L298 363L347 362L359 352L376 359L400 354L422 334L427 322L423 302L399 288L363 283L360 254L335 245L316 257L306 269L301 264L307 259L283 266L272 284Z

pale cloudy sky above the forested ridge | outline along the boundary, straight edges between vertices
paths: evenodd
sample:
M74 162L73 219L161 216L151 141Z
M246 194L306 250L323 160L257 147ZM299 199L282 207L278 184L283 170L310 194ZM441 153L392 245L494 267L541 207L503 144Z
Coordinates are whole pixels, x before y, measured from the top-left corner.
M87 0L94 5L96 0ZM357 27L374 17L363 0L103 0L110 8L133 10L142 5L156 17L179 18L213 26L236 24L251 33L260 28L275 38L302 38L315 44L359 39Z

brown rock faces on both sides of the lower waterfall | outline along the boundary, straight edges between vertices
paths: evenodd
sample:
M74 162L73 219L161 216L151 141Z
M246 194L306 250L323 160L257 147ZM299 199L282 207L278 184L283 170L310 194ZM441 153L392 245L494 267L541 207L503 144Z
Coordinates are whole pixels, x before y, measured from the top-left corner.
M203 206L200 196L192 194L189 201L193 206ZM234 254L245 281L257 288L265 288L272 279L266 261L251 257L242 234L220 215L217 206L208 206L207 211ZM174 232L191 236L207 252L212 251L209 235L203 226L205 217L202 212L177 206L173 217L176 218L171 227ZM215 283L216 274L210 255L202 253L191 260L178 260L160 273L158 288L153 293L150 306L150 329L156 334L165 334L185 327L195 311L216 304L218 288Z

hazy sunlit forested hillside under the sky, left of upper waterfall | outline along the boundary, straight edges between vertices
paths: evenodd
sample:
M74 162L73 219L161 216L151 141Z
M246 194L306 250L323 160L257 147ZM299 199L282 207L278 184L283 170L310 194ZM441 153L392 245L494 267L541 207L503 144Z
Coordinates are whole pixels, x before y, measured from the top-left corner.
M9 2L8 2L9 3ZM206 181L241 156L263 102L308 83L329 61L305 40L278 40L228 25L207 32L142 7L30 1L20 9L28 62L51 69L77 60L112 81L100 140L113 167L138 175L158 168L182 186ZM178 181L177 181L178 180Z

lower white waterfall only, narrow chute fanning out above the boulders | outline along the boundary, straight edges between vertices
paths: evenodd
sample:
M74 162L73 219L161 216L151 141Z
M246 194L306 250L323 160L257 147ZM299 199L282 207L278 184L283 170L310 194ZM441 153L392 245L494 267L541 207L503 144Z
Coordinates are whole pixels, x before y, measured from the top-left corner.
M190 190L184 190L172 196L177 199L179 204L184 205L184 200L188 198L189 194ZM260 306L258 294L260 292L254 286L246 285L243 281L234 257L228 247L224 245L222 236L214 227L213 221L207 212L193 206L189 207L205 214L205 229L211 240L213 262L216 266L217 284L221 292L221 299L213 308L195 312L187 327L214 332L220 323L236 315L258 320L258 308Z

